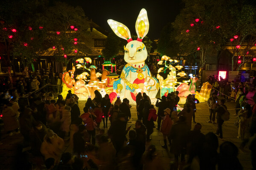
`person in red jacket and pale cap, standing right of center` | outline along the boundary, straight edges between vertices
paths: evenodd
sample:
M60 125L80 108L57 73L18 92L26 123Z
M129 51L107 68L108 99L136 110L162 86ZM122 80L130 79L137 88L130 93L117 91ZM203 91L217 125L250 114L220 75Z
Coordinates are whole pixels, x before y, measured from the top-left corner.
M171 109L167 108L164 110L165 111L165 117L163 117L163 121L162 121L162 126L160 128L160 132L162 132L163 134L163 137L164 137L164 143L165 145L163 145L162 147L167 149L167 140L166 140L166 137L170 134L171 132L171 127L172 127L172 120L171 120ZM171 141L169 140L170 144L171 144Z

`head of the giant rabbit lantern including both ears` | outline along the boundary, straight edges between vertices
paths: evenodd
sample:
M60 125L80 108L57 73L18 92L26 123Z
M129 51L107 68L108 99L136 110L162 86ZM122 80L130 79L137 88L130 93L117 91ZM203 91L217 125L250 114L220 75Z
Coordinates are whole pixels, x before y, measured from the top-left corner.
M128 41L124 46L124 60L127 63L141 63L147 59L147 49L142 43L142 39L147 35L149 30L149 22L147 18L147 11L141 9L135 23L137 40L132 40L131 34L127 26L115 20L108 20L109 26L118 37Z

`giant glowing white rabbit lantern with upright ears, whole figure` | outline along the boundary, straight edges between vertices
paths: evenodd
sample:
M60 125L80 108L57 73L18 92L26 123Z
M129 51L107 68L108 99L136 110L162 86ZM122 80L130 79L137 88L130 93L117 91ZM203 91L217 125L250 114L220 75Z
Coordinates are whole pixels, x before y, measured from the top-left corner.
M141 9L135 23L138 35L137 40L132 40L127 26L114 20L108 20L109 26L118 37L128 41L124 46L124 60L127 62L122 70L120 78L113 83L113 89L121 99L127 98L130 104L135 104L138 92L146 93L151 101L154 101L159 89L159 83L152 77L148 66L145 64L147 59L147 49L142 43L142 39L147 35L149 23L147 12Z

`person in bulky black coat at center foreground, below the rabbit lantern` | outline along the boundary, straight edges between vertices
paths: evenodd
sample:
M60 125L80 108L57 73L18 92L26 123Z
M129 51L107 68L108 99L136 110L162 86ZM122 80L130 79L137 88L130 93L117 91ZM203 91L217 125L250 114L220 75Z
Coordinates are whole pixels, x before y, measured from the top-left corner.
M116 154L124 146L124 141L127 140L126 134L130 130L130 127L126 130L126 115L125 113L118 114L118 119L112 121L112 124L109 127L108 135L111 138L111 141L115 147Z

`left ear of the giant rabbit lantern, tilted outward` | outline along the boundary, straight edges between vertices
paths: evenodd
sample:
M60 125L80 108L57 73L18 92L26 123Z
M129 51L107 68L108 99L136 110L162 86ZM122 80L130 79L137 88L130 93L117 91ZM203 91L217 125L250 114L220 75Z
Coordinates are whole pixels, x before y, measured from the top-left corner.
M130 41L132 41L131 33L130 33L129 29L127 28L127 26L125 26L124 24L119 23L115 20L108 20L108 23L109 23L109 26L111 27L111 29L115 32L115 34L118 37L127 40L128 43Z

